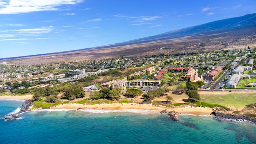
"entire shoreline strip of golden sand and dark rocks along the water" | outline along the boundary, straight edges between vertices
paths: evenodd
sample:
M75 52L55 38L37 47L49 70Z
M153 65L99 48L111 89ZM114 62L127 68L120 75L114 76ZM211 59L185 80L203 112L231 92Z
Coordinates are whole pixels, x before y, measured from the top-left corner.
M0 98L0 100L21 100L18 98ZM82 111L89 113L122 113L129 112L134 114L167 114L168 118L177 122L180 122L178 119L179 116L212 116L214 114L214 118L216 120L229 120L235 122L246 121L251 124L256 124L256 118L242 116L242 115L234 115L228 114L225 112L218 112L216 110L212 110L212 108L204 108L204 107L193 107L193 106L184 106L182 108L166 108L163 106L152 106L150 104L60 104L57 106L50 106L49 108L35 108L32 109L32 100L21 100L24 104L21 107L16 108L13 112L6 115L6 120L13 120L17 118L21 118L20 114L24 112L30 111ZM82 107L81 107L82 106ZM21 109L21 110L18 110ZM164 109L164 110L163 110ZM18 112L16 112L18 110ZM220 116L221 115L221 116Z

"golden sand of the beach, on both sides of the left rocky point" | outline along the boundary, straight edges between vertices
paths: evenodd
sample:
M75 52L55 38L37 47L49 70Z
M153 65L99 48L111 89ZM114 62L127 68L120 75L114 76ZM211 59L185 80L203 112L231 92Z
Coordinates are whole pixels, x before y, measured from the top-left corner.
M24 96L0 96L0 99L20 99L20 100L31 100L32 95L24 95ZM40 109L40 108L39 108ZM175 111L178 114L193 114L193 115L210 115L212 112L211 108L202 108L202 107L191 107L186 106L182 108L166 108L163 106L152 106L150 104L76 104L76 103L69 103L69 104L60 104L58 106L50 107L51 110L87 110L92 112L92 110L102 110L102 112L106 110L126 110L127 112L137 112L140 113L138 110L147 110L147 113L160 113L160 111L167 109L167 112ZM151 112L150 112L151 111ZM117 111L116 111L117 112ZM144 111L141 113L145 113Z

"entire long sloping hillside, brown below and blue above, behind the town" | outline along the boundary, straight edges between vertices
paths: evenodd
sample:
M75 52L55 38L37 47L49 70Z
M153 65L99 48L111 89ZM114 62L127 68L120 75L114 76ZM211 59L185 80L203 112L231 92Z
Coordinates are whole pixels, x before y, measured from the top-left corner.
M256 13L218 20L136 40L82 50L5 58L18 64L47 64L120 56L256 48ZM161 48L161 49L159 49Z

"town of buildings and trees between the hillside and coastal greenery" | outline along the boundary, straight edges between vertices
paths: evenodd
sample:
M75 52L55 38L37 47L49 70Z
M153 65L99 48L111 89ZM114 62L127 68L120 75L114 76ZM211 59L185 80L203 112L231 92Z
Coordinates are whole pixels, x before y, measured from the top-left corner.
M176 89L202 81L199 89L255 88L256 50L122 57L84 62L19 66L0 64L1 92L28 92L42 84L81 82L84 90L164 86ZM93 79L92 79L93 77ZM151 88L151 87L149 87Z

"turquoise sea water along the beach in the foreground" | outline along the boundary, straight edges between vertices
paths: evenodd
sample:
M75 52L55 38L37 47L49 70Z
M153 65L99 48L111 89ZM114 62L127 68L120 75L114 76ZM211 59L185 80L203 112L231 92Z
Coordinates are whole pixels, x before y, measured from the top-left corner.
M252 144L256 126L210 116L32 111L4 121L21 102L0 101L0 144Z

